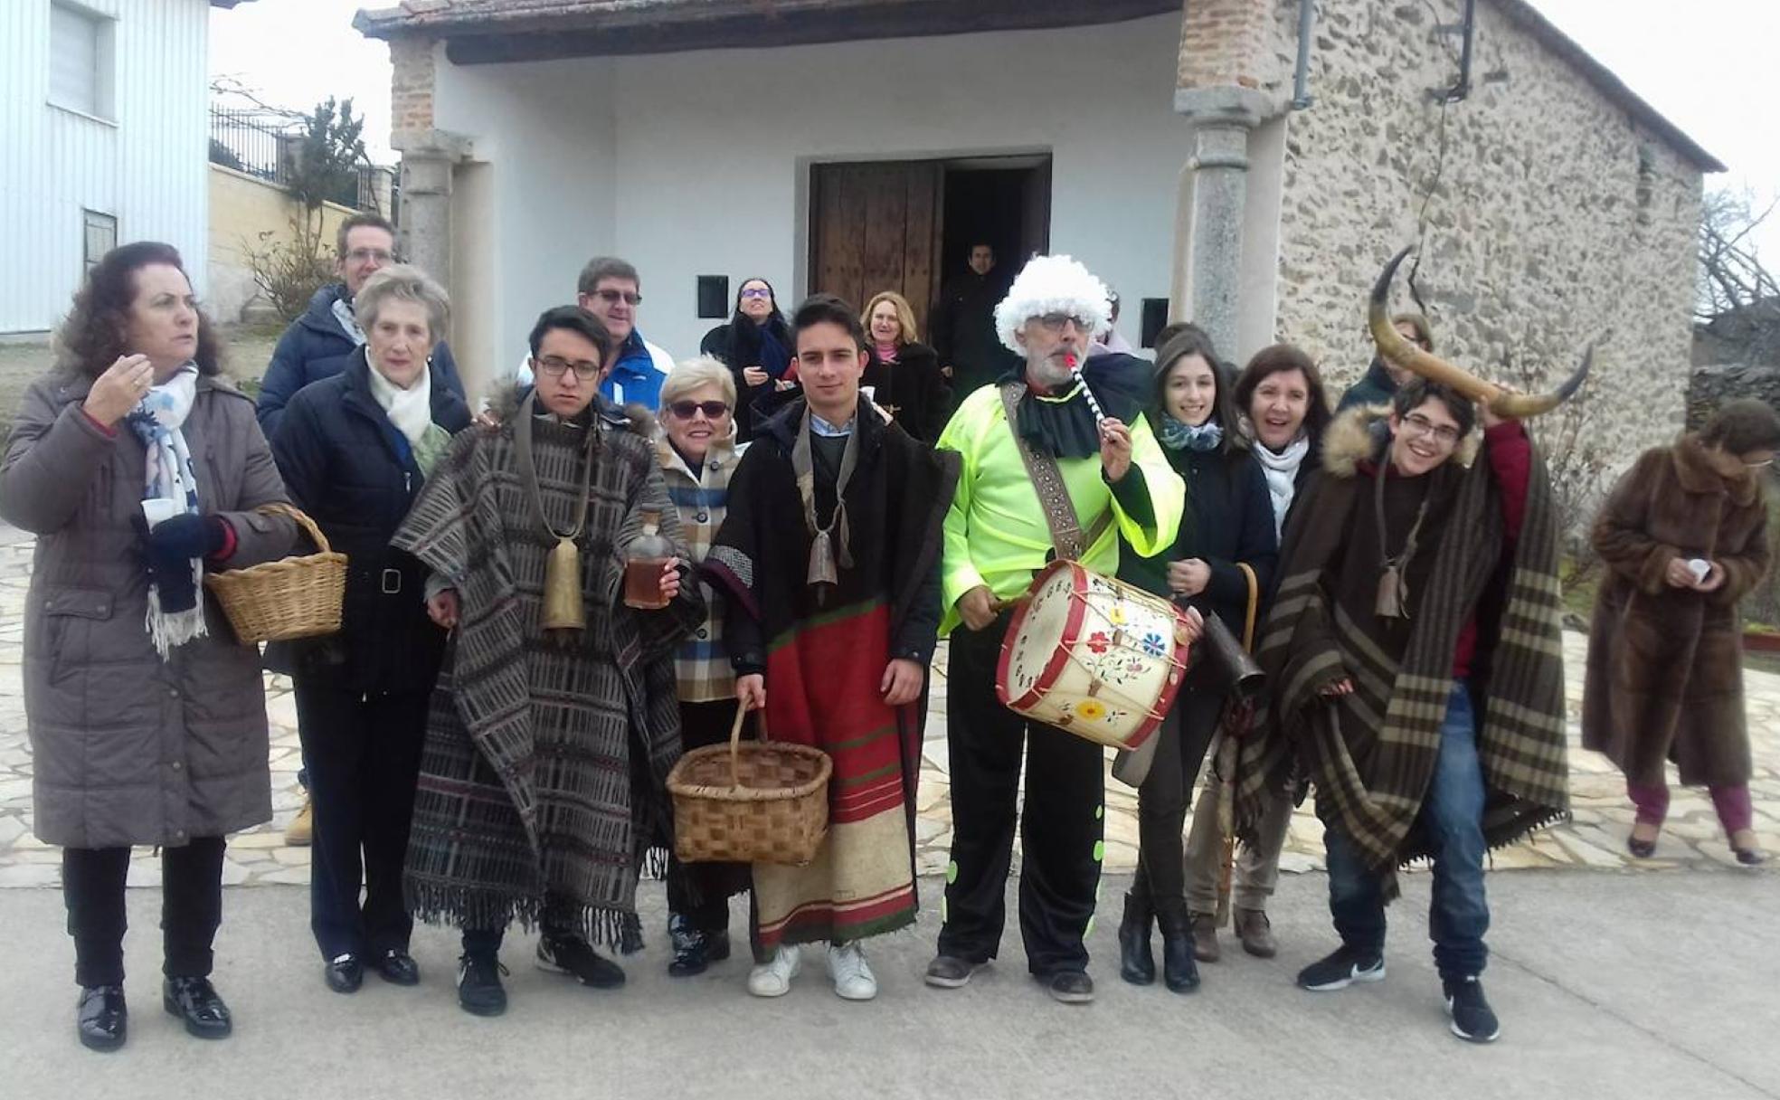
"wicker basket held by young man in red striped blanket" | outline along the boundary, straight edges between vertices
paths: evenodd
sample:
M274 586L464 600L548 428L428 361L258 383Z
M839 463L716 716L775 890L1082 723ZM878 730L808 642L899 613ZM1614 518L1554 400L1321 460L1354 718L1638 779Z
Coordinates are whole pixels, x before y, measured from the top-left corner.
M692 749L668 772L673 845L684 863L785 863L815 858L828 833L828 753L803 744L742 744L737 705L730 744Z

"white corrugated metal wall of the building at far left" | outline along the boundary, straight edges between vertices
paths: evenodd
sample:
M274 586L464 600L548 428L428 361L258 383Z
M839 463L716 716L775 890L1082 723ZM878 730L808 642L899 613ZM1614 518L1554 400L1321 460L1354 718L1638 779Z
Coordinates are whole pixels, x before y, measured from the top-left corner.
M0 4L0 333L53 328L82 269L82 208L166 240L205 292L208 0L80 0L114 16L112 121L48 103L52 0Z

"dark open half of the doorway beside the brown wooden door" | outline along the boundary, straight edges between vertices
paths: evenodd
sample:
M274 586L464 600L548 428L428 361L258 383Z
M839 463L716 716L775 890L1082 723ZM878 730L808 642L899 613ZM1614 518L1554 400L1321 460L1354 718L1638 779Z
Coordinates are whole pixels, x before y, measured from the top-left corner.
M945 166L942 283L965 272L974 244L991 246L995 267L1009 279L1027 258L1050 249L1050 157Z

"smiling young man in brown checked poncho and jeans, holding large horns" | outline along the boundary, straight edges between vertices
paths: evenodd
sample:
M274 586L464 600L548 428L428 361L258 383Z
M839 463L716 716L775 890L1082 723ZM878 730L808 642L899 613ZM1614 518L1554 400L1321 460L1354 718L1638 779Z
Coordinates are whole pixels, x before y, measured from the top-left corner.
M1479 409L1481 457L1467 447ZM1241 746L1237 824L1269 785L1308 771L1340 947L1298 984L1383 981L1396 870L1428 858L1451 1029L1493 1041L1485 851L1565 803L1543 463L1518 420L1413 377L1388 415L1356 408L1330 425L1292 516L1257 648L1276 694Z

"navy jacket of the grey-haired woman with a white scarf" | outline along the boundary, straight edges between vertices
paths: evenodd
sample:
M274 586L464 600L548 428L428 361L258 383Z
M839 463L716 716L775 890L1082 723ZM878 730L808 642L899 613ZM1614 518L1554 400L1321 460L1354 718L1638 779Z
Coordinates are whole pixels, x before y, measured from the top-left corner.
M470 408L433 376L433 424L456 434ZM276 671L335 678L363 692L429 691L445 632L427 618L427 570L390 546L425 477L408 438L370 393L365 351L345 370L304 386L285 406L272 457L290 500L347 555L340 634L274 644Z

